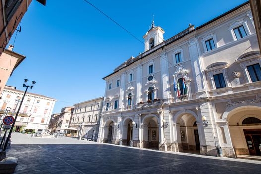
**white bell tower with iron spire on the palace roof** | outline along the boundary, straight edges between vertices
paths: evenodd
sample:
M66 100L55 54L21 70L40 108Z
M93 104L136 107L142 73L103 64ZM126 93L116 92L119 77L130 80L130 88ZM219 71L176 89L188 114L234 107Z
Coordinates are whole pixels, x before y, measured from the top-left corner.
M150 29L143 36L145 40L145 51L153 48L164 41L163 34L165 31L160 26L155 26L154 20L152 20Z

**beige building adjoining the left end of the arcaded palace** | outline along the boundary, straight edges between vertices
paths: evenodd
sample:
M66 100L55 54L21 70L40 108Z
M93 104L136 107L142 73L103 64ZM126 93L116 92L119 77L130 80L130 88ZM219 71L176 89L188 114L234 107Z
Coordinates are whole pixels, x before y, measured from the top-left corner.
M103 97L74 104L74 113L70 121L72 136L97 141Z

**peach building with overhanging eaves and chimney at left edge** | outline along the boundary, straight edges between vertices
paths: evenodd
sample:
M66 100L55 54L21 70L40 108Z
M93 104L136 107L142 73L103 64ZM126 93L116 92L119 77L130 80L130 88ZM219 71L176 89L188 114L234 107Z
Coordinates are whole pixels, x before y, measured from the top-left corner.
M25 59L25 56L15 53L12 50L13 46L9 45L8 49L4 50L0 56L0 94L13 71Z

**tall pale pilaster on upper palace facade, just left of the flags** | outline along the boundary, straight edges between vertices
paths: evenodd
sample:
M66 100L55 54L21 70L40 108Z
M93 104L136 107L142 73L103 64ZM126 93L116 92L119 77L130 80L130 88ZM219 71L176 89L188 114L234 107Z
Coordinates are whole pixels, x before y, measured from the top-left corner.
M162 78L163 99L170 99L169 63L167 53L160 54L160 72Z

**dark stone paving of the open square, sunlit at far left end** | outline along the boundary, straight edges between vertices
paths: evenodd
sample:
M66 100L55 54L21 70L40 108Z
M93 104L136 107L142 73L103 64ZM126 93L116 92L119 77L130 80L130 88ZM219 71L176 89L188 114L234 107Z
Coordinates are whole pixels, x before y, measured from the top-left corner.
M261 174L260 161L165 153L69 137L33 138L20 133L12 134L7 156L19 159L15 174Z

